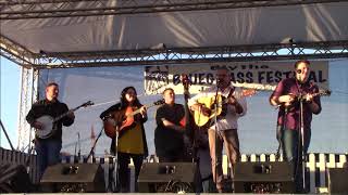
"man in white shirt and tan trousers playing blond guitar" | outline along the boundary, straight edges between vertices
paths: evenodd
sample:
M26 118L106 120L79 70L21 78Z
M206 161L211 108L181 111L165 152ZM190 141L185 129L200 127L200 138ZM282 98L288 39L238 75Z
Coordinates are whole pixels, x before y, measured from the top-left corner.
M241 90L233 87L231 81L229 70L227 67L221 66L216 69L216 86L208 88L188 102L195 112L196 123L209 128L212 173L220 193L224 192L223 144L229 162L234 167L240 158L237 120L247 113L247 102L241 95Z

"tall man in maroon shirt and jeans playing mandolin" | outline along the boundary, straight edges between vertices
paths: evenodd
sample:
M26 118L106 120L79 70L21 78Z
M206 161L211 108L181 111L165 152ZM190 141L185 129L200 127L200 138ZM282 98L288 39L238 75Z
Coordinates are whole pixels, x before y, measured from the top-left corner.
M282 145L285 160L294 165L296 186L302 186L299 165L302 160L302 154L307 154L310 144L312 114L318 115L322 110L319 88L309 81L309 61L297 61L295 77L283 79L270 98L271 105L279 107L277 139ZM300 103L302 103L302 112ZM300 121L301 114L302 122ZM300 129L303 130L302 135L300 135ZM302 139L303 147L300 148Z

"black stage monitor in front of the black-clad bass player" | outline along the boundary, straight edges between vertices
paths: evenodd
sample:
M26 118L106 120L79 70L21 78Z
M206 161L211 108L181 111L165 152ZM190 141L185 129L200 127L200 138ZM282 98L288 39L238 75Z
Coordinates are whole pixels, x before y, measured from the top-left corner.
M142 193L194 193L197 180L194 162L147 162L142 164L138 186Z

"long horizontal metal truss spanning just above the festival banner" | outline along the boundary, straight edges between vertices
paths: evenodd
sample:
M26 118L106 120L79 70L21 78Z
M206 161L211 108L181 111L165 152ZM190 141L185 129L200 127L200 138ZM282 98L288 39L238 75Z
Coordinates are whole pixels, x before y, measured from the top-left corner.
M69 68L339 57L348 57L348 41L45 53L36 61L34 67Z

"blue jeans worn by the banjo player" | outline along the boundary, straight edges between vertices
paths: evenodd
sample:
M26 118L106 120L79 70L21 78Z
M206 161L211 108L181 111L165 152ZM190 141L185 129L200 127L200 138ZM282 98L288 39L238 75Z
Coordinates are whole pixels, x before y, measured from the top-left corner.
M46 168L60 162L62 142L55 140L36 140L35 150L39 164L39 176L42 177Z

